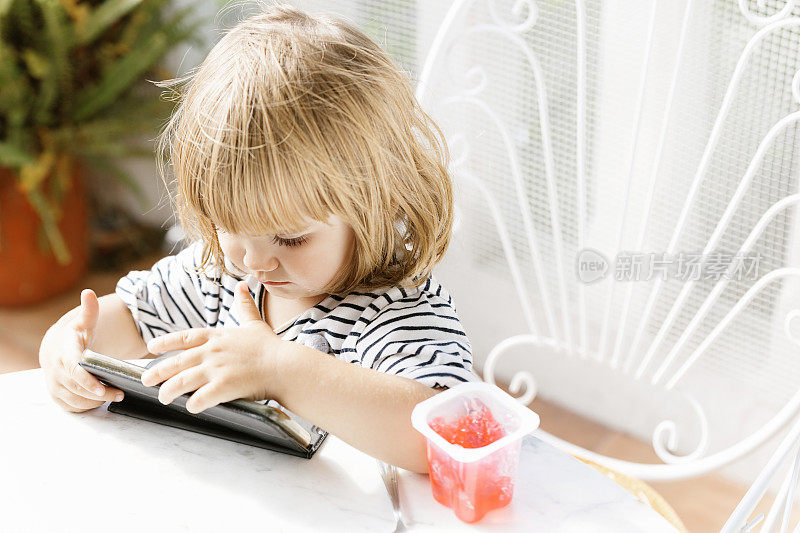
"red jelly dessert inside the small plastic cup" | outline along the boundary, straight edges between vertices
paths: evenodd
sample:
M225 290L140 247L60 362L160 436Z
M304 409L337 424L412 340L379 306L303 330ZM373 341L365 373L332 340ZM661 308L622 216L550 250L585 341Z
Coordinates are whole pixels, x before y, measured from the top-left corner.
M431 429L447 442L463 448L480 448L505 436L506 431L483 404L452 420L438 417ZM462 463L428 442L428 462L433 497L451 507L464 522L476 522L492 509L507 505L514 492L513 474L519 458L519 441L471 463Z

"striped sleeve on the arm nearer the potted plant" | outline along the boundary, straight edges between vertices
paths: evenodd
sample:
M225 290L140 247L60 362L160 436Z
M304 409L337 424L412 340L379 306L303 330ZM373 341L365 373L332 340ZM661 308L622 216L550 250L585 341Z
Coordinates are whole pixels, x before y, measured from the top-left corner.
M133 270L117 282L115 292L130 309L145 342L165 333L208 326L203 314L203 274L193 270L200 245L194 243L159 259L150 270Z

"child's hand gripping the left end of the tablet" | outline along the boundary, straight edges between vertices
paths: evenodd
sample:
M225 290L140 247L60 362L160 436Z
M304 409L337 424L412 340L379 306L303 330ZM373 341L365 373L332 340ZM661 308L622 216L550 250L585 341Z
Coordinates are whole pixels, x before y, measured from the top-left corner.
M59 406L72 413L123 398L121 390L103 385L78 364L94 339L99 316L97 295L92 289L84 289L78 314L53 324L39 346L39 365L47 390Z

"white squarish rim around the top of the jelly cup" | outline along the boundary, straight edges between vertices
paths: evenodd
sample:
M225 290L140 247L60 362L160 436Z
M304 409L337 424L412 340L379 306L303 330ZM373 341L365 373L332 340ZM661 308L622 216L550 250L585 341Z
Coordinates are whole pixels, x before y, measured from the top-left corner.
M492 412L506 434L496 441L480 448L464 448L451 444L436 433L430 422L443 417L451 419L467 414L475 401L483 403ZM500 387L485 382L461 383L418 403L411 412L411 425L425 435L450 457L462 463L478 461L497 450L521 439L539 427L539 415L522 405Z

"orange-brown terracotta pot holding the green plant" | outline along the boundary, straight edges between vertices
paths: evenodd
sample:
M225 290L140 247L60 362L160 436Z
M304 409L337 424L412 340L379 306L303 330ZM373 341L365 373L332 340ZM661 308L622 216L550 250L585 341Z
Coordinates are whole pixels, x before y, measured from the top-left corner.
M75 161L58 220L71 261L60 265L49 242L46 252L40 249L41 221L17 188L14 172L0 168L0 306L41 302L74 287L86 273L89 215L84 183L83 167Z

